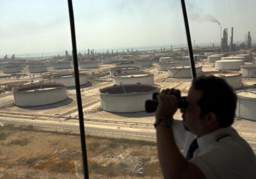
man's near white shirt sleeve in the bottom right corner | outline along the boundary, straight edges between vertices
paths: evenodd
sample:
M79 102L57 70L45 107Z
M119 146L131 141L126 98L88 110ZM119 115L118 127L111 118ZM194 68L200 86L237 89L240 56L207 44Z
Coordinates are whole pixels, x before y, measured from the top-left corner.
M255 157L247 147L235 145L212 146L204 155L192 158L207 179L256 178Z

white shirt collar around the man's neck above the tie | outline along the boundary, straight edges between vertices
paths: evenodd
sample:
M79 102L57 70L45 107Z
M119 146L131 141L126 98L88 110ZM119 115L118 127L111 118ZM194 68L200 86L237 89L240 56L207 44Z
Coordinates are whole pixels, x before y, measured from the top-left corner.
M220 128L216 131L213 131L209 134L206 134L204 136L201 136L197 139L198 147L201 150L206 149L209 145L211 145L213 142L217 141L217 137L222 134L229 134L230 130L232 130L232 127L226 127L226 128Z

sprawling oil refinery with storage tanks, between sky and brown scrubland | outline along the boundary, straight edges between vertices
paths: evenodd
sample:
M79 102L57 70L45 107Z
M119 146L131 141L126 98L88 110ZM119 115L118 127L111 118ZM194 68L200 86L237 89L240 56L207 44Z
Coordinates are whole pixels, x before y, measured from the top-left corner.
M194 46L192 60L197 76L217 76L234 89L237 108L233 126L255 151L256 138L251 134L255 135L253 127L256 126L256 43L252 43L250 32L243 42L233 42L237 39L234 30L223 30L219 46ZM78 53L86 135L101 136L104 141L125 138L155 142L155 117L154 113L145 111L145 101L166 88L179 89L182 96L188 94L192 82L188 48L171 45L152 50L86 51ZM67 50L65 56L4 56L0 59L0 84L0 124L24 126L24 130L32 127L33 130L79 134L73 56ZM181 112L178 110L174 117L182 120ZM115 140L111 141L116 146ZM56 146L55 143L49 145ZM104 146L109 147L108 143ZM136 147L144 149L145 146ZM130 152L124 147L121 149L124 153ZM135 156L129 153L129 157ZM49 159L50 162L56 160L59 159ZM98 160L101 162L101 158ZM106 162L109 160L111 157Z

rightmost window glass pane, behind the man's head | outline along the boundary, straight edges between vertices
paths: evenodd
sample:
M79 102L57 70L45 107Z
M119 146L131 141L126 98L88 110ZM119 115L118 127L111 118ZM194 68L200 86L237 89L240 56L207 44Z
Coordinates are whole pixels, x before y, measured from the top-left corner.
M197 75L224 78L234 88L233 127L255 153L256 2L187 0L186 5L193 53L200 57Z

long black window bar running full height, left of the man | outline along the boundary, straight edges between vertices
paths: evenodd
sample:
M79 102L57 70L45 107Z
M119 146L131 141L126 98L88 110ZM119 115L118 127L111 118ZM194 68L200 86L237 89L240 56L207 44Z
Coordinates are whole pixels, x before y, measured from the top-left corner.
M80 93L80 82L79 82L79 72L78 72L78 62L77 62L77 44L76 44L76 35L75 35L74 12L73 12L72 0L67 0L67 2L69 7L69 21L70 21L71 39L72 39L72 48L73 48L73 62L74 62L73 64L74 64L75 84L76 84L76 92L77 92L77 107L78 107L78 116L79 116L84 178L89 179L85 132L84 132L84 116L83 116L82 99L81 99L81 93Z

